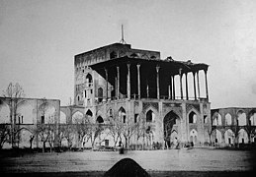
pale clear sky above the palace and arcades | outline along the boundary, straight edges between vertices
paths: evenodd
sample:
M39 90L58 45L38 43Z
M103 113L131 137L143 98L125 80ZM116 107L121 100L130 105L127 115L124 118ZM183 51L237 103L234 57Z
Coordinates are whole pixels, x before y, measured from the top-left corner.
M0 0L0 90L73 98L74 55L121 40L210 65L212 108L256 107L253 0ZM204 76L204 75L203 75Z

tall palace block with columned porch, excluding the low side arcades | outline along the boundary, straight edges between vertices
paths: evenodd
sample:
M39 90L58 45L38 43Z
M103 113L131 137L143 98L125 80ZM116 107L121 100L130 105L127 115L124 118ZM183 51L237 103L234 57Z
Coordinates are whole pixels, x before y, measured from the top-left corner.
M101 126L95 144L115 146L112 126L120 126L127 146L203 145L212 129L208 68L113 43L75 55L74 102Z

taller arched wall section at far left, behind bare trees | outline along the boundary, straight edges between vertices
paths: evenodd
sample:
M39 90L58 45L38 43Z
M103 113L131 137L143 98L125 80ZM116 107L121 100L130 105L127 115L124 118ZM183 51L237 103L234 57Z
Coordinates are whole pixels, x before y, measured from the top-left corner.
M0 126L3 131L12 130L15 138L9 138L3 148L42 148L39 128L41 125L59 124L60 100L45 98L0 97ZM41 127L42 128L42 127ZM41 129L42 130L42 129ZM1 137L3 138L3 137ZM1 140L2 143L2 140ZM1 145L2 146L2 145Z

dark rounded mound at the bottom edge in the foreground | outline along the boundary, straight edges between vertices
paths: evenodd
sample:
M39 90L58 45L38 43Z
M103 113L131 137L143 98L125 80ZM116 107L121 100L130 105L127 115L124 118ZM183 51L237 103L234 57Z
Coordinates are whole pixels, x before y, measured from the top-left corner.
M150 177L150 175L133 159L123 158L109 169L104 177Z

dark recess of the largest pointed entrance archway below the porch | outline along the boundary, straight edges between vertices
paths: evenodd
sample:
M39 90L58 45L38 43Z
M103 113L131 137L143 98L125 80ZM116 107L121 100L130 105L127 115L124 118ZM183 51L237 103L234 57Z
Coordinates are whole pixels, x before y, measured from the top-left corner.
M165 148L171 147L171 134L173 132L173 126L176 125L176 120L178 118L179 116L176 113L170 111L163 119ZM178 132L176 133L178 135Z

